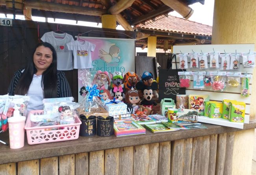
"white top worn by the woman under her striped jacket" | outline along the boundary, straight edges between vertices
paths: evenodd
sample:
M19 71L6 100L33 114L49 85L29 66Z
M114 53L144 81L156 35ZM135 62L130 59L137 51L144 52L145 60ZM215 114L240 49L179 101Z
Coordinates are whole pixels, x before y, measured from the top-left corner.
M44 99L44 91L41 86L42 75L33 75L33 79L28 89L28 96L30 99L28 101L28 112L31 110L42 110L44 105L42 100Z

